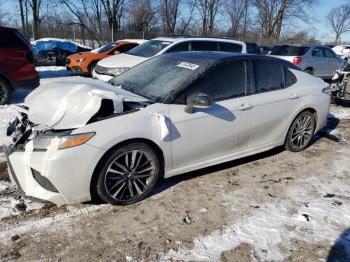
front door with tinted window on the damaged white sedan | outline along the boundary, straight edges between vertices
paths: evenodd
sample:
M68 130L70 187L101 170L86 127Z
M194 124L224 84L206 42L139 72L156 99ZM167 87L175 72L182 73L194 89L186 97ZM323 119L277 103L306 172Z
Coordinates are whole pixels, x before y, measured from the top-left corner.
M215 158L247 149L252 115L245 69L244 61L216 66L170 105L174 169L216 163ZM186 113L186 98L199 93L210 96L214 103Z

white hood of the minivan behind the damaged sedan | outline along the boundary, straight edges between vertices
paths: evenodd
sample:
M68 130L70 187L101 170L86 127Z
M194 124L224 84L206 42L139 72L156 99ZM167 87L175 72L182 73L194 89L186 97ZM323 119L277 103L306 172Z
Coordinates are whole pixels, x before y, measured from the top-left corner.
M128 54L119 54L102 59L97 64L102 67L116 68L116 67L134 67L146 60L148 57L134 56Z

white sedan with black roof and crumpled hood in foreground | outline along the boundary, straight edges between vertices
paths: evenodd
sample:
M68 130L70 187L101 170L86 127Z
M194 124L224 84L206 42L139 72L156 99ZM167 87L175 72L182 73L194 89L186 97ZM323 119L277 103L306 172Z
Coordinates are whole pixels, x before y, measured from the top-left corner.
M172 53L114 78L36 89L7 128L11 179L56 204L130 204L170 177L285 145L325 126L330 88L272 57Z

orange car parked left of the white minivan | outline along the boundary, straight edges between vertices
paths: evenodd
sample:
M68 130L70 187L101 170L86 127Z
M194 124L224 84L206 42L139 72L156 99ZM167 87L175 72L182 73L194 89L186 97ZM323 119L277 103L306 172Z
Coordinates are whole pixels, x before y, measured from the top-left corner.
M147 40L125 39L109 43L92 51L77 53L67 58L67 69L78 74L92 75L98 61L103 58L123 54Z

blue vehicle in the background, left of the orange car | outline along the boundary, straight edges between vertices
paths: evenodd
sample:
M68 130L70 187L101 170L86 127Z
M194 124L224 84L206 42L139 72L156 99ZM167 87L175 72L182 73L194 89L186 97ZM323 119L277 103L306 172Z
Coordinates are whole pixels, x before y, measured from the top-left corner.
M37 66L65 66L67 57L79 52L91 51L71 40L41 38L32 42Z

